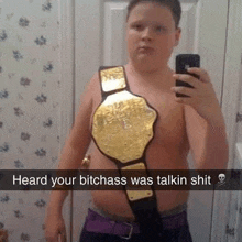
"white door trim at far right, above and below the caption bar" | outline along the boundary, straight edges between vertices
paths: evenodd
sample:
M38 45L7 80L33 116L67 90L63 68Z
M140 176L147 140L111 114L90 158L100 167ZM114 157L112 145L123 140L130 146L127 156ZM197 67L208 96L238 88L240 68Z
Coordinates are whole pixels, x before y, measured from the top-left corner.
M227 40L227 55L224 69L224 84L222 97L222 111L226 119L228 141L230 146L230 157L228 168L237 168L235 163L235 142L237 112L239 109L240 97L240 47L242 31L238 23L241 22L242 8L241 0L229 0L229 29ZM238 202L240 191L216 191L213 218L212 218L212 242L238 241ZM239 199L240 198L240 199ZM231 233L230 233L231 231ZM234 231L234 234L233 234Z

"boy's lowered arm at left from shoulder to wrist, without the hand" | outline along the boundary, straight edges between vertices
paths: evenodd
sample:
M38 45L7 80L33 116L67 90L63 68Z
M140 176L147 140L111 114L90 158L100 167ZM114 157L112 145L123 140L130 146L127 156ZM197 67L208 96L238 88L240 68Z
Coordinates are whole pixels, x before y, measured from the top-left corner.
M58 169L78 169L91 141L90 118L92 112L92 86L97 75L91 79L88 88L80 100L78 114L70 134L63 147ZM67 190L53 190L50 206L57 212L62 211L62 206L67 196Z

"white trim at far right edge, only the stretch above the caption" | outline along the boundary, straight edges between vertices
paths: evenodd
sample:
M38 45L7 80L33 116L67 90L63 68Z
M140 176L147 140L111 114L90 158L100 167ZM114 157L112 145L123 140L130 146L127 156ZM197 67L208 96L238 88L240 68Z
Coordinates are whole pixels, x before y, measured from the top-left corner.
M240 6L239 6L240 4ZM229 28L228 30L228 47L226 56L226 72L224 72L224 94L222 98L222 111L226 118L226 124L230 144L230 158L229 167L233 168L235 140L237 140L237 112L239 110L240 99L240 69L241 69L241 53L239 53L238 45L241 41L242 32L240 28L234 29L239 19L234 14L237 9L242 8L241 0L230 0L230 15L229 15ZM242 20L242 18L241 18Z

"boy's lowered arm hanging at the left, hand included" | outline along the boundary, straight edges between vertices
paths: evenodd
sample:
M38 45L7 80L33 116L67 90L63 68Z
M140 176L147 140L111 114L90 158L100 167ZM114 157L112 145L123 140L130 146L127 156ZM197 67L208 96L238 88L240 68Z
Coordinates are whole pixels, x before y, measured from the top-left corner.
M90 119L94 108L94 87L97 85L97 78L98 75L96 74L81 98L78 114L62 151L58 169L78 169L88 150L91 141ZM53 190L51 193L45 217L45 235L47 241L57 241L58 234L61 234L62 241L66 241L62 208L67 195L68 190Z

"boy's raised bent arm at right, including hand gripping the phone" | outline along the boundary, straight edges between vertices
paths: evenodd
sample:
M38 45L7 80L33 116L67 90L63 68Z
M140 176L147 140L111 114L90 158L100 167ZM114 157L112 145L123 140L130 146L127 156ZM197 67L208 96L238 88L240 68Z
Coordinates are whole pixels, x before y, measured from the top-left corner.
M195 168L226 169L229 157L226 124L210 77L201 68L188 68L188 72L200 78L184 74L176 74L174 77L187 81L194 88L173 87L172 90L189 96L175 97L175 100L184 103Z

